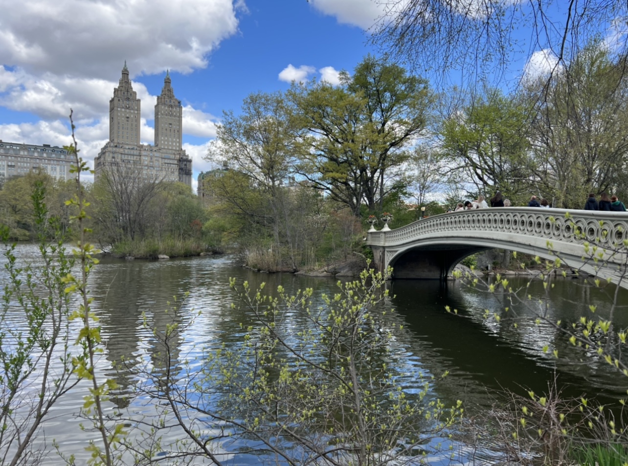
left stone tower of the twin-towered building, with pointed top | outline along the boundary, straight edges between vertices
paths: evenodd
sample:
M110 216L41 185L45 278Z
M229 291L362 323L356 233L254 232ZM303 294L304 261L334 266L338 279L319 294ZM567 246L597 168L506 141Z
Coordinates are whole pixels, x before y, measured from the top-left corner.
M139 145L140 102L129 79L124 62L122 77L114 96L109 100L109 141L116 144Z

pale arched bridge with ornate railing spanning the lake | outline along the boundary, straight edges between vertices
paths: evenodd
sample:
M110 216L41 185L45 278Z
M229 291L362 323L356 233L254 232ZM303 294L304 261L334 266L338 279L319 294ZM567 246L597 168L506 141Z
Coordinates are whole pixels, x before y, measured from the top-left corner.
M627 212L538 207L461 210L394 230L370 231L366 244L378 270L393 267L393 279L443 279L470 254L499 247L551 261L558 256L572 269L611 278L628 288ZM595 252L593 246L598 246Z

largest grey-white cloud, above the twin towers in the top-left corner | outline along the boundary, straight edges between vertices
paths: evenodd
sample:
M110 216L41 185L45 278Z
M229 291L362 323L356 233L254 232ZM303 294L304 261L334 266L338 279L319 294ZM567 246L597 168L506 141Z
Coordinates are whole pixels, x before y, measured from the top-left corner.
M0 63L29 73L102 77L191 72L237 31L232 0L0 0Z

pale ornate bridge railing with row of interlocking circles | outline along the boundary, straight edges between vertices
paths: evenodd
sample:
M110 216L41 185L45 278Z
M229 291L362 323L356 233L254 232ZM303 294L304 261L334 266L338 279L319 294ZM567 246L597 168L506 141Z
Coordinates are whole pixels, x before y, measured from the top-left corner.
M566 218L567 212L569 218ZM576 235L575 229L584 233ZM622 245L628 239L627 212L543 209L539 207L498 207L460 210L417 220L389 231L367 233L369 246L397 246L414 241L425 234L453 231L518 234L548 241L573 244L600 243L600 246Z

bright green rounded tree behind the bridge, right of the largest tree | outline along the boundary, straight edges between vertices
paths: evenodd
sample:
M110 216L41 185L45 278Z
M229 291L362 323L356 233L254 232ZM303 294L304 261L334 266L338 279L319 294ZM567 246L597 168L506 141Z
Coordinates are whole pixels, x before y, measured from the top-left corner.
M443 154L449 170L462 173L485 195L495 189L516 195L529 186L528 126L524 104L489 90L443 123Z

